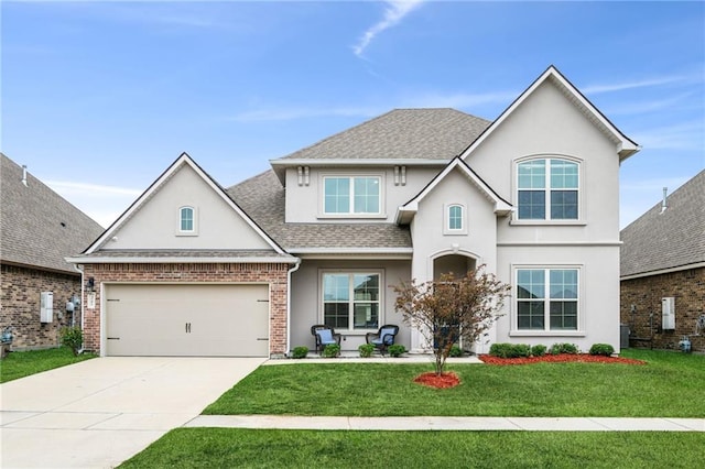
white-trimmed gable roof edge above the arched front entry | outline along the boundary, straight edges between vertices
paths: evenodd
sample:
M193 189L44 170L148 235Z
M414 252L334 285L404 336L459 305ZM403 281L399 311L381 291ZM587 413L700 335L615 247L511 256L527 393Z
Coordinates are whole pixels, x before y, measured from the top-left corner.
M451 163L448 163L446 167L438 173L414 198L399 207L395 218L397 223L405 225L411 221L414 214L419 210L419 204L431 192L433 192L434 188L442 184L453 171L459 171L464 174L470 184L476 187L489 203L494 204L495 214L505 216L512 211L511 204L501 198L487 183L485 183L485 181L482 181L479 175L477 175L477 173L473 171L473 168L470 168L470 166L467 165L465 161L457 156L453 159L453 161L451 161Z

